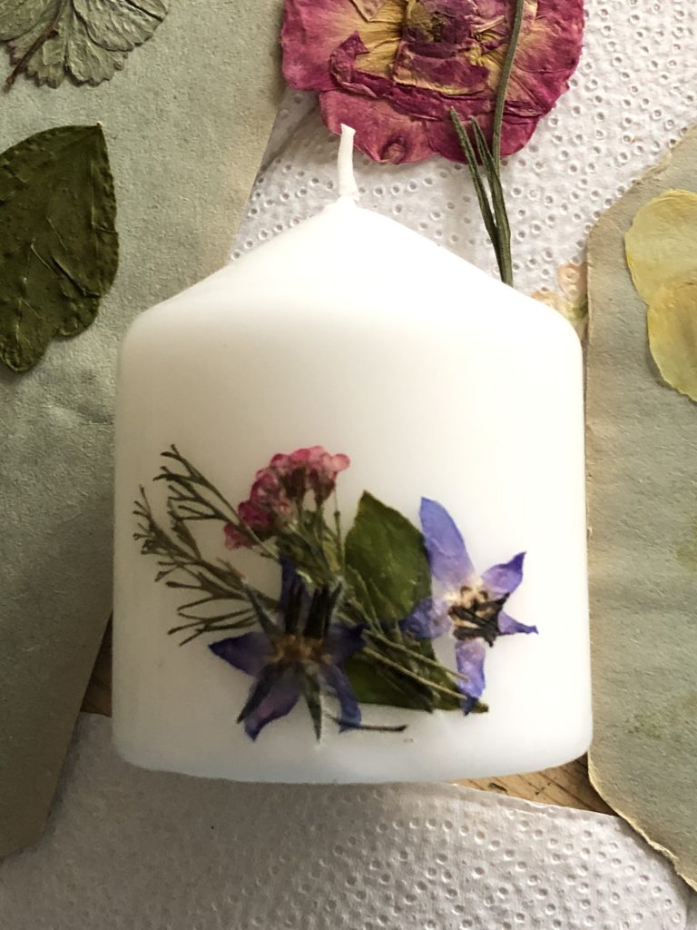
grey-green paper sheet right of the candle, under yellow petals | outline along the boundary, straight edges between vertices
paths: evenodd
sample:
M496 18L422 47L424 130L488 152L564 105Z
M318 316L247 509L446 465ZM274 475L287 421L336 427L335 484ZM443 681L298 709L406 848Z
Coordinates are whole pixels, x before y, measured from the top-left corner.
M590 764L605 800L697 888L697 405L653 365L624 241L669 188L697 191L697 127L588 243Z

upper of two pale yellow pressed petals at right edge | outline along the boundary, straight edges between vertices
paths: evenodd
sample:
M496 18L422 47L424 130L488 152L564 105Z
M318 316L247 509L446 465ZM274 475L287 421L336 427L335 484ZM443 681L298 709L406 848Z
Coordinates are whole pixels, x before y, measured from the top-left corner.
M646 303L663 285L687 281L697 269L697 193L664 191L638 211L625 233L634 286Z

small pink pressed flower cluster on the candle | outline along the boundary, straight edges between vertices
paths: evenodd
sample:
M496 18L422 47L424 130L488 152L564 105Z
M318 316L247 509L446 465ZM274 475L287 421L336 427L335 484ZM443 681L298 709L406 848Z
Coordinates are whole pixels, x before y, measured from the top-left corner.
M312 445L295 452L278 453L266 468L256 472L249 498L243 500L238 513L243 525L256 537L270 538L283 530L308 493L320 506L334 491L339 472L349 468L349 456L331 455L322 445ZM243 525L225 526L228 549L249 547L253 540Z

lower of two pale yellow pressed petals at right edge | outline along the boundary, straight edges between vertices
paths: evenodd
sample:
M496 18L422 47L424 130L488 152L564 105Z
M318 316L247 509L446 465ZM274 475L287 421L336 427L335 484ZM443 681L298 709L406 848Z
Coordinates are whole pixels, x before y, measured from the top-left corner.
M649 346L664 381L697 401L697 268L695 280L653 293Z

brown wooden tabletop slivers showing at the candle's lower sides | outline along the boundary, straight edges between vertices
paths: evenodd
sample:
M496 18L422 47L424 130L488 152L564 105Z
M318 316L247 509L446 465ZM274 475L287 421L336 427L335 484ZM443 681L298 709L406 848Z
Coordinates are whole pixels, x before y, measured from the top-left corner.
M112 648L111 630L107 634L99 651L99 657L92 674L83 702L83 711L102 713L110 716L112 712ZM562 807L576 807L579 810L598 811L612 814L612 810L600 798L588 780L585 758L579 759L559 768L548 768L545 772L532 775L512 775L506 778L480 778L465 780L460 784L483 791L497 791L528 801L543 804L560 804Z

